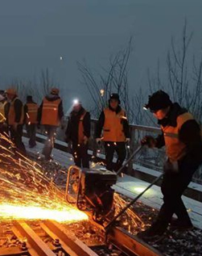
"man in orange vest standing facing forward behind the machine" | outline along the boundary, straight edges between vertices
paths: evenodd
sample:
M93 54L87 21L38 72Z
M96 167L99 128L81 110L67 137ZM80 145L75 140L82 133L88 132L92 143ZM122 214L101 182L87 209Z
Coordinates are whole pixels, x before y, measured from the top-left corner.
M129 124L126 111L120 106L118 94L110 94L109 107L101 112L96 128L96 141L105 141L107 170L119 170L126 158L126 143L130 142ZM101 131L103 129L103 137ZM113 153L117 152L117 164L113 167Z

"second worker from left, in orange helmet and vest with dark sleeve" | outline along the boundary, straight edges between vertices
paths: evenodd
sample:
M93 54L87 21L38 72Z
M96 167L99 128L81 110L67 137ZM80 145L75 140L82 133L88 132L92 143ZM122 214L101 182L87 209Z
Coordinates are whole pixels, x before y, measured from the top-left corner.
M9 88L6 90L6 97L9 102L7 123L9 126L10 139L18 149L19 153L26 154L22 141L24 108L22 101L18 98L17 90Z

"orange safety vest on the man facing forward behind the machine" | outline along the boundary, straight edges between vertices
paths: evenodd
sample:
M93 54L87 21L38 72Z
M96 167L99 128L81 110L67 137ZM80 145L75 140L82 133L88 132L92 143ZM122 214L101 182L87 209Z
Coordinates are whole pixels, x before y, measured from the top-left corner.
M126 111L121 110L119 113L116 113L107 107L105 108L104 113L105 124L103 128L103 141L126 141L126 136L122 125L122 120L126 119Z

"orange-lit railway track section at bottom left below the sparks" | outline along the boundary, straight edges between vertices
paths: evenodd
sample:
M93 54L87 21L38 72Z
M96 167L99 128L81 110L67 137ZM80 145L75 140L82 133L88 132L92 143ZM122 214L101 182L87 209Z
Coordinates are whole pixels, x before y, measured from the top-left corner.
M56 221L14 221L9 233L10 246L0 249L1 256L97 256Z

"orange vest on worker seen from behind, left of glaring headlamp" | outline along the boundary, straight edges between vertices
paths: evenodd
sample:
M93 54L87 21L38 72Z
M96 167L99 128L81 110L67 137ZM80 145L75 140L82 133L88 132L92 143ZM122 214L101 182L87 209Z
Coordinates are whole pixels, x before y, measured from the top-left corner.
M49 101L46 98L43 99L41 124L49 124L53 126L60 125L58 115L58 107L60 105L60 102L61 99L56 99L54 101Z

